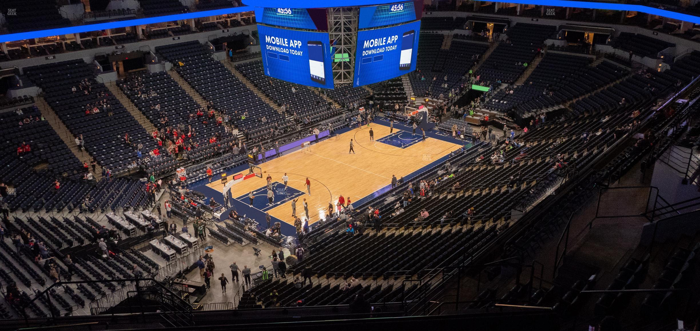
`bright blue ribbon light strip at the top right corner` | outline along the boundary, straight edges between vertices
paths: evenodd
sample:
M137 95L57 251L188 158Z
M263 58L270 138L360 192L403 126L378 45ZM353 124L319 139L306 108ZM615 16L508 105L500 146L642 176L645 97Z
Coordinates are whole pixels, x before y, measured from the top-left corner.
M487 1L487 0L477 0L477 1ZM673 18L674 20L681 20L681 21L693 22L696 24L700 24L700 17L698 17L698 16L676 13L675 11L663 10L663 9L659 9L659 8L649 7L649 6L628 5L625 3L606 3L606 2L591 2L591 1L569 1L569 0L507 0L504 2L521 3L521 4L526 4L526 5L554 6L554 7L574 7L574 8L589 8L589 9L639 11L639 12L647 13L647 14L651 14L651 15L659 15L659 16L663 16L663 17Z

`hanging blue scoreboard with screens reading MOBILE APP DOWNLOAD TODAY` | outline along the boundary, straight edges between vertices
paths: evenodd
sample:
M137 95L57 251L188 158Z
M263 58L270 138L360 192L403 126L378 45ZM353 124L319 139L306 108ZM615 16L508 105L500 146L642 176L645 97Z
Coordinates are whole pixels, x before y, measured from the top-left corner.
M379 83L416 69L423 0L374 6L332 1L342 7L324 8L266 4L274 2L279 3L244 0L255 7L266 76L332 89L336 83ZM340 37L333 30L338 10L345 13Z

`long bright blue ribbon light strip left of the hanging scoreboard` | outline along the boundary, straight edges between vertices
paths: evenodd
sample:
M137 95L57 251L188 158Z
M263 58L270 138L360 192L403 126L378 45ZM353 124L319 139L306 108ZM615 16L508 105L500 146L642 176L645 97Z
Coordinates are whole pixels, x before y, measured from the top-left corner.
M0 43L4 43L6 41L18 41L18 40L42 38L42 37L48 37L48 36L59 36L62 34L76 34L79 32L99 31L99 30L104 30L104 29L115 29L118 27L134 27L136 25L143 25L143 24L162 23L162 22L170 22L170 21L176 21L176 20L189 20L190 18L217 16L217 15L225 15L225 14L235 14L235 13L242 13L242 12L246 12L246 11L253 11L253 7L244 6L244 7L232 7L232 8L223 8L223 9L214 9L214 10L203 10L203 11L195 11L192 13L184 13L184 14L137 18L136 20L123 20L123 21L117 21L117 22L106 22L106 23L79 25L77 27L61 27L58 29L46 29L46 30L38 30L38 31L20 32L20 33L16 33L16 34L3 34L3 35L0 35Z

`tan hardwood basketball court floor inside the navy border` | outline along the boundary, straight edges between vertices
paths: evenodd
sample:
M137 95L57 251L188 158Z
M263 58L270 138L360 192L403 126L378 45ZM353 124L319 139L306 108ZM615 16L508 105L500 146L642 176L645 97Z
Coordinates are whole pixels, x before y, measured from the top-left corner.
M371 127L375 140L389 135L389 127L375 123L372 123ZM386 143L370 141L369 131L370 127L364 125L339 136L314 143L307 150L297 150L258 164L262 169L263 178L249 178L233 185L231 195L236 198L247 195L249 191L265 187L265 178L268 174L272 176L273 182L282 183L282 176L286 173L289 176L288 185L304 192L297 202L297 216L304 219L302 201L304 198L307 199L311 220L309 224L311 224L318 220L319 216L325 217L328 202L332 202L335 206L339 195L346 199L350 197L353 202L356 202L391 184L391 175L401 178L461 147L455 143L428 137L426 141L419 141L407 148L398 148ZM394 133L397 131L393 129ZM411 132L402 135L410 136ZM420 137L419 134L416 134L416 137ZM355 142L356 154L348 153L350 139ZM311 195L308 194L304 185L307 177L311 181ZM207 186L219 192L223 190L221 181L209 183ZM256 195L255 199L267 201L267 196ZM247 204L248 199L244 199L243 202ZM269 209L269 214L286 223L294 224L290 201Z

